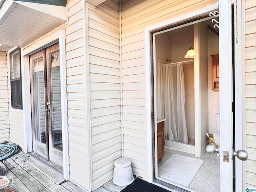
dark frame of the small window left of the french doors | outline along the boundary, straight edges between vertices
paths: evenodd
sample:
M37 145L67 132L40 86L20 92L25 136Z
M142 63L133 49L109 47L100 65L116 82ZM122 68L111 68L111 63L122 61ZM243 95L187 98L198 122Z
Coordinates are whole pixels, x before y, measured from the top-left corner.
M12 56L16 53L19 53L19 64L20 64L20 77L19 78L12 78L12 74L13 74L13 61L12 61ZM12 52L9 53L9 67L10 67L10 97L11 97L11 107L14 109L23 109L23 105L22 105L22 77L21 77L21 52L20 52L20 48L16 48L15 50L13 50ZM20 90L16 89L16 93L19 92L20 93L20 105L17 104L17 99L16 102L14 102L14 92L12 91L12 82L17 82L19 81L19 86L20 86ZM14 104L15 103L15 104Z

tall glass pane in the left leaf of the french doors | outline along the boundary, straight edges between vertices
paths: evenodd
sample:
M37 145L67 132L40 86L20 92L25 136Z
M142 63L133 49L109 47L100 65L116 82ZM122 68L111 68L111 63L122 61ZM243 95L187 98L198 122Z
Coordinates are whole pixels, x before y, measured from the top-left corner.
M45 117L45 95L44 95L44 62L43 58L33 61L34 68L34 117L35 138L45 143L46 117Z

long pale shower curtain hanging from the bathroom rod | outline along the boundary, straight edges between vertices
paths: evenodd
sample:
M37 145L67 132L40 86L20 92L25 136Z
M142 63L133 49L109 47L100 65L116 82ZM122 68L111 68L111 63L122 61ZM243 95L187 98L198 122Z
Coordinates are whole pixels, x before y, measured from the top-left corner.
M163 66L165 137L188 143L185 116L185 88L182 62Z

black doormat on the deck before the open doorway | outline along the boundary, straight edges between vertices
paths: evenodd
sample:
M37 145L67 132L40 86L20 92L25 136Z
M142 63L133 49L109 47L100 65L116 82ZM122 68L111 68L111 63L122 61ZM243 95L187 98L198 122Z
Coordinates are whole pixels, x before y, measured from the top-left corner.
M121 192L170 192L154 184L148 183L140 178L124 188Z

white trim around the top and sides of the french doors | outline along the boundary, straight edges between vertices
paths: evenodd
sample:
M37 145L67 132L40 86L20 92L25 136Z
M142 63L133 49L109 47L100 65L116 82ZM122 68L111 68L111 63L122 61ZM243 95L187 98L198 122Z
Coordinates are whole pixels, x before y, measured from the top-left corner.
M67 93L66 93L66 46L65 46L65 31L59 30L52 33L50 36L44 39L34 42L30 46L21 50L23 56L22 62L22 82L24 82L22 94L24 107L24 149L25 152L32 151L32 124L31 124L31 95L30 93L30 66L29 55L40 47L50 44L56 40L59 40L60 44L60 86L61 86L61 102L62 102L62 139L63 139L63 177L69 179L69 155L68 155L68 112L67 112ZM24 67L23 67L24 66Z

